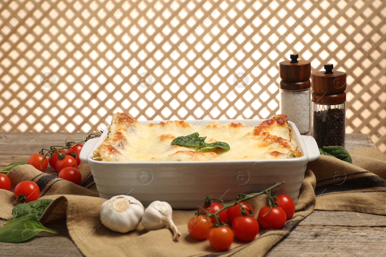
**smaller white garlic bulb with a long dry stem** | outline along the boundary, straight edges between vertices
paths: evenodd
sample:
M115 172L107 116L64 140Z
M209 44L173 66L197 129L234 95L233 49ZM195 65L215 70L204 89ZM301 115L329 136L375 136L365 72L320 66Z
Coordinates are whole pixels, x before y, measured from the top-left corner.
M149 230L158 230L165 226L173 231L173 239L178 240L181 235L171 219L172 209L169 203L154 201L146 208L142 217L142 225Z

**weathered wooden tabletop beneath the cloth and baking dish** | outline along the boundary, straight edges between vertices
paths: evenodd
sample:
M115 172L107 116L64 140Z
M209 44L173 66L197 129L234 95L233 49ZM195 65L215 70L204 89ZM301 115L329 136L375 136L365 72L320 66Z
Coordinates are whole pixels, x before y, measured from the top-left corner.
M0 167L14 161L25 161L32 153L50 145L79 141L86 133L20 133L0 134ZM369 136L347 134L346 148L369 147ZM21 244L0 242L0 256L83 256L69 237L64 219L46 225L60 235L43 232ZM274 246L267 257L310 256L385 256L386 217L355 213L314 211L301 221L287 237ZM166 256L165 256L166 257Z

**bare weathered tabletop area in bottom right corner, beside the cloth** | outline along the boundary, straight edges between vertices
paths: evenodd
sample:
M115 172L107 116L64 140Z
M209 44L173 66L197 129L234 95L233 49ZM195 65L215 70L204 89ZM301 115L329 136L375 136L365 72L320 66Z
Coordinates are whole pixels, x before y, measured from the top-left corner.
M345 225L330 225L334 223ZM384 216L314 211L266 256L385 256L385 230Z

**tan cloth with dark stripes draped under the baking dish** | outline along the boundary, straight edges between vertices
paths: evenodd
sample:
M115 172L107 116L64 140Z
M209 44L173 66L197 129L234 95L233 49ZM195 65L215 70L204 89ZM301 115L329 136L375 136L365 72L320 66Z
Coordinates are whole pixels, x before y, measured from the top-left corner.
M173 220L183 234L179 242L172 240L169 229L146 232L142 224L136 230L121 234L101 225L99 208L105 199L98 198L90 169L81 163L81 186L42 173L30 165L17 166L8 176L11 191L20 181L35 181L41 199L54 200L41 218L43 223L67 217L69 234L87 257L99 256L264 256L313 210L353 211L386 215L386 155L376 149L358 148L351 153L353 164L331 156L320 156L308 163L296 203L294 217L281 230L266 230L252 242L235 239L230 249L218 252L208 240L197 241L187 232L187 222L195 211L173 210ZM0 218L9 219L14 207L14 194L0 190ZM250 201L254 210L266 205L265 197ZM256 213L257 214L257 213ZM256 216L255 214L255 216ZM186 236L188 235L188 236ZM54 235L53 235L54 236ZM34 240L34 239L32 239Z

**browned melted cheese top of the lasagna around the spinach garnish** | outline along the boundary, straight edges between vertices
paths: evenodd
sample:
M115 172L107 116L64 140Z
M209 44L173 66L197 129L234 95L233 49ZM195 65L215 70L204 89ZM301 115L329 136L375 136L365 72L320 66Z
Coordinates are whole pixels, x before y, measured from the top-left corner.
M206 142L228 143L230 150L203 148L198 151L171 145L179 136L198 132ZM141 124L128 114L113 116L108 138L94 151L100 161L208 161L259 160L300 157L287 116L279 114L257 127L242 123L200 125L186 121Z

